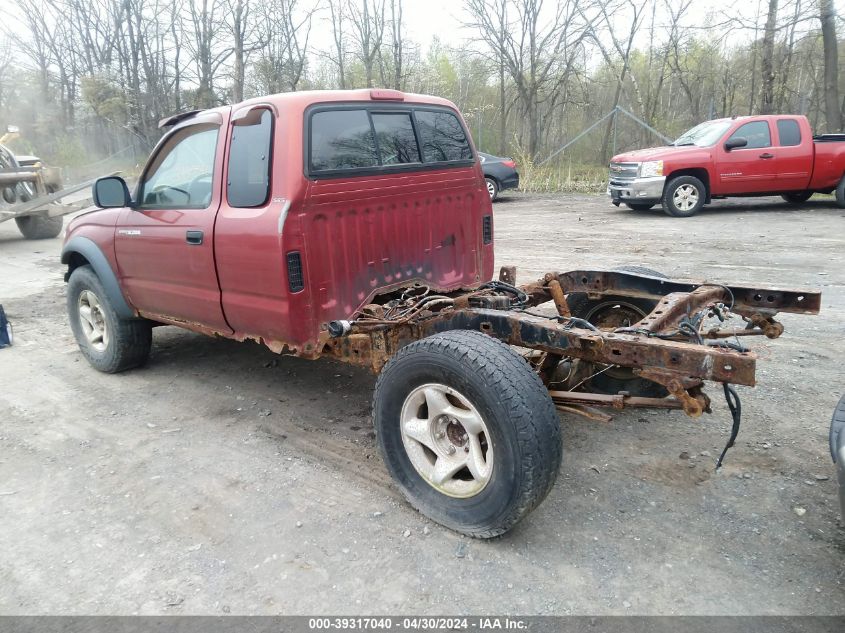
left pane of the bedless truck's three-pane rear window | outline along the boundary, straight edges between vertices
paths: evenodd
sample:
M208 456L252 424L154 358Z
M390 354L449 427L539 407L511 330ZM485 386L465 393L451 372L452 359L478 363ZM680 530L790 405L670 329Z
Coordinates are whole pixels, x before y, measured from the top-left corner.
M329 110L311 117L311 171L378 165L366 110Z

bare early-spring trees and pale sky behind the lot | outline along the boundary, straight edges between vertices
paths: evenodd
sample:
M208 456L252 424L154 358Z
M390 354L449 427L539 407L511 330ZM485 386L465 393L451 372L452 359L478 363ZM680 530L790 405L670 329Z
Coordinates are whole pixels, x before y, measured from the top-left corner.
M444 96L482 149L534 162L616 106L668 136L758 112L842 129L833 0L463 0L460 42L409 39L412 1L14 0L0 124L66 165L141 160L174 112L322 88ZM657 142L608 119L553 164Z

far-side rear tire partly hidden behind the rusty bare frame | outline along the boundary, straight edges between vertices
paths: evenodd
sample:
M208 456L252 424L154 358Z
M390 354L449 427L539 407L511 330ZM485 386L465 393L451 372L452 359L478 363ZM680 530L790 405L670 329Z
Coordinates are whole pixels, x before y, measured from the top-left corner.
M645 266L619 266L617 272L651 275L667 279L666 275ZM654 310L657 301L606 295L601 299L590 299L585 292L573 292L566 296L572 316L585 319L597 327L625 327L626 322L633 325ZM598 371L598 368L596 369ZM595 373L595 372L591 372ZM643 398L664 398L668 391L663 385L637 377L629 368L618 367L593 376L585 383L593 393L615 395L627 391L632 396Z

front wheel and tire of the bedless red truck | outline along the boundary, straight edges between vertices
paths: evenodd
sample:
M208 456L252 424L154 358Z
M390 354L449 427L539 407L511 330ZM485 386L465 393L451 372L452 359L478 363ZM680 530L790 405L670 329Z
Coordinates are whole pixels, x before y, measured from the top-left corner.
M116 374L147 361L152 324L145 319L120 318L90 266L80 266L71 273L67 309L79 349L98 371Z

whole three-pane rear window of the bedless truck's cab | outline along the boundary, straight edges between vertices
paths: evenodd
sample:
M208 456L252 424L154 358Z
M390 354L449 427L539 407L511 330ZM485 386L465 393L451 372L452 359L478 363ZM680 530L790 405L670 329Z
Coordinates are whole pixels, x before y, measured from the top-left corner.
M475 160L460 119L445 107L320 105L306 121L312 177L440 169Z

